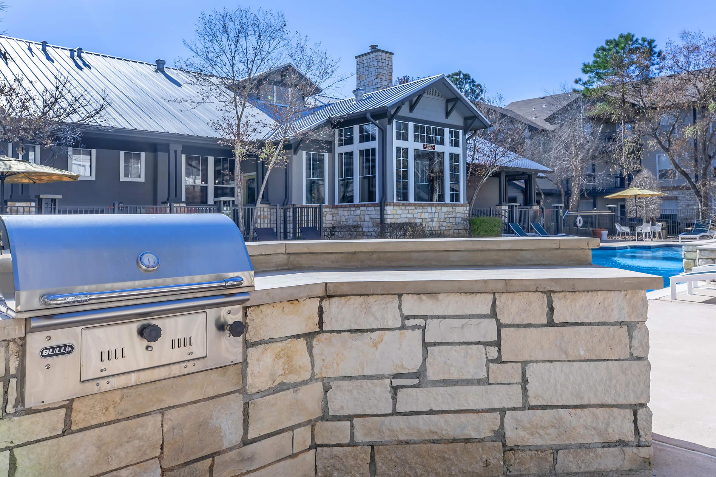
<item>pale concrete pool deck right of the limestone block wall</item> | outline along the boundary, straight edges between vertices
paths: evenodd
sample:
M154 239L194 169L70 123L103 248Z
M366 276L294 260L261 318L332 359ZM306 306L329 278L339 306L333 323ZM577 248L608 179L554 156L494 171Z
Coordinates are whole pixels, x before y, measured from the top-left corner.
M702 291L716 296L716 287ZM716 308L649 300L647 326L654 471L643 476L716 476Z

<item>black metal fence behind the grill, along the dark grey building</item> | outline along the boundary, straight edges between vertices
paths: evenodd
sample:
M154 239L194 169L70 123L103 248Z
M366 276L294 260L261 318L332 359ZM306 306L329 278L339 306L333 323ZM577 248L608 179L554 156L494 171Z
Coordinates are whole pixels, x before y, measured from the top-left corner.
M221 208L218 205L124 205L115 202L109 206L58 206L52 202L42 205L9 205L6 215L95 215L95 214L224 214L231 217L246 237L251 230L251 221L256 217L255 228L273 229L279 240L303 240L301 227L316 227L323 235L322 205L244 205L243 217L239 218L238 207ZM253 237L246 241L256 240Z

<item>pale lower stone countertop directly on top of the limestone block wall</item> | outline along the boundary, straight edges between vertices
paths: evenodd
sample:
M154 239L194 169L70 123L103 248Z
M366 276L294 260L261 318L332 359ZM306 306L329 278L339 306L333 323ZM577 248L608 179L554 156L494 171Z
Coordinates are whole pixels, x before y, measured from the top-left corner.
M410 267L258 272L247 305L325 295L647 290L662 277L598 265Z

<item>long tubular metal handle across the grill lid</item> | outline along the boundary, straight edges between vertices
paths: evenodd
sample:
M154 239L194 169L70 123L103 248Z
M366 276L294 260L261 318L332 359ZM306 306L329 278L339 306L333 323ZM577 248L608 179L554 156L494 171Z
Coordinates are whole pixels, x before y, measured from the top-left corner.
M79 292L63 293L62 295L43 295L40 303L46 306L74 305L76 303L89 303L95 300L108 298L133 298L161 295L163 293L198 292L202 290L215 290L217 288L234 288L243 285L242 277L231 277L226 280L213 282L184 283L180 285L163 285L161 287L126 288L125 290L110 290L107 292Z

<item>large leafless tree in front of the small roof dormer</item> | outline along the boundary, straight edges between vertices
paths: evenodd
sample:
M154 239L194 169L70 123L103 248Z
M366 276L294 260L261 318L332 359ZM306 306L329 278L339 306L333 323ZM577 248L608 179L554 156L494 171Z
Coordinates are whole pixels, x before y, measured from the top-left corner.
M241 6L203 12L195 39L184 44L191 56L179 66L200 94L181 101L212 104L218 112L208 124L220 144L233 149L238 223L251 233L255 220L251 230L243 230L241 164L256 158L266 165L263 191L271 170L288 162L284 147L306 111L306 97L332 85L337 62L320 44L291 31L280 11ZM269 137L273 145L266 144Z

